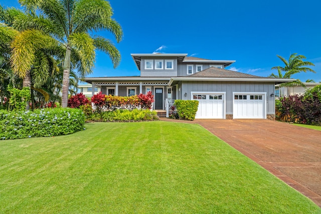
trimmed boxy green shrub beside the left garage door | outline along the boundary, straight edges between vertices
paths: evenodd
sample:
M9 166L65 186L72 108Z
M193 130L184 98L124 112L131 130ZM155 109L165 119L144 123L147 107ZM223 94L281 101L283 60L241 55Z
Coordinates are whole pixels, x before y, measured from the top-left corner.
M176 106L177 113L180 119L183 120L194 120L195 115L199 106L197 100L175 100L174 105Z

